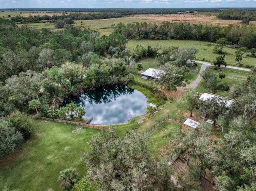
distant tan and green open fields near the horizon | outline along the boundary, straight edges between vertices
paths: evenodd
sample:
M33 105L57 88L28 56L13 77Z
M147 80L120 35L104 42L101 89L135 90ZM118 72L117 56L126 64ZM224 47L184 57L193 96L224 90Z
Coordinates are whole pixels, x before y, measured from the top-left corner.
M0 16L7 17L10 16L29 16L30 14L32 16L34 15L50 15L53 14L62 15L63 12L24 12L20 14L19 12L1 12ZM136 22L151 22L156 23L160 25L163 21L169 21L169 22L187 22L191 24L197 24L197 25L213 25L213 26L228 26L229 24L240 24L240 20L220 20L219 18L216 18L216 15L218 13L195 13L195 14L170 14L170 15L131 15L128 17L123 18L112 18L112 19L102 19L102 20L77 20L74 24L75 26L81 27L81 28L90 28L91 30L98 30L101 32L102 35L109 35L112 32L111 26L116 25L120 22L124 23L125 25L128 23L136 23ZM81 23L82 22L82 23ZM250 24L256 26L256 22L250 22ZM23 25L23 24L22 24ZM54 28L54 24L46 23L31 23L31 24L25 24L29 27L35 27L37 29L40 28Z

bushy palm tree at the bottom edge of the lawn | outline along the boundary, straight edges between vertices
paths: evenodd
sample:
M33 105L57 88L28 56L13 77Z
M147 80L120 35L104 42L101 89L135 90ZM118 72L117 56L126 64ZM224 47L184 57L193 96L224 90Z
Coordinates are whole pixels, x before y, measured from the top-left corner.
M58 177L59 179L57 181L62 181L60 187L63 190L72 190L74 184L79 181L77 171L78 170L76 170L73 167L69 167L67 169L60 171L60 175Z

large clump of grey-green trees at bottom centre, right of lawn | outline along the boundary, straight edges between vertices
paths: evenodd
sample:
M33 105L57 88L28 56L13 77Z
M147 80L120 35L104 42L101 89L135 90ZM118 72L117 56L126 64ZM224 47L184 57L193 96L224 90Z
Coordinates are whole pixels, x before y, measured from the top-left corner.
M130 130L124 138L114 130L102 131L88 142L91 149L83 154L89 168L86 179L110 191L176 190L170 181L172 170L150 157L148 138L138 130Z

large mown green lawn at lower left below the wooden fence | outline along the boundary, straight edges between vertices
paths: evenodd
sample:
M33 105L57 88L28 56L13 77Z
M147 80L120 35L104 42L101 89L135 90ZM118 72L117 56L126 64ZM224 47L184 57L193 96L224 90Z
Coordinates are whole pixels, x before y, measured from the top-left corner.
M5 160L1 161L0 190L58 191L61 182L56 182L61 170L67 167L79 169L83 177L81 154L88 150L86 140L99 130L78 126L34 120L35 135ZM72 133L79 128L80 133Z

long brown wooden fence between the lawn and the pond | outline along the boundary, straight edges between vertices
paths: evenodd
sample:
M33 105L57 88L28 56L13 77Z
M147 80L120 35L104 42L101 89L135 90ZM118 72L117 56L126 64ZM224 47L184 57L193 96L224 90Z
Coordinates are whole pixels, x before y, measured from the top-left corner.
M53 118L47 118L47 117L39 117L39 116L31 116L31 118L33 118L33 119L48 120L48 121L54 121L54 122L59 122L59 123L72 124L72 125L77 125L77 126L90 127L90 128L94 128L94 129L108 130L108 127L98 126L98 125L88 124L88 123L80 123L80 122L60 120L60 119L53 119ZM91 119L92 118L90 118L89 121L91 121Z

